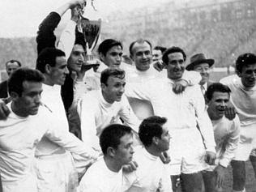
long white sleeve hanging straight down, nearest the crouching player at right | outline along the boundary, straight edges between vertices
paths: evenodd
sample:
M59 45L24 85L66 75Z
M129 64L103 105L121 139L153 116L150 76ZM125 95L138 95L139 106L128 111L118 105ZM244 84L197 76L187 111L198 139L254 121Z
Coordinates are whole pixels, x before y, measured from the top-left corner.
M203 98L203 94L200 90L200 87L198 85L196 86L196 89L194 89L193 97L194 97L194 109L197 117L197 122L199 126L199 130L203 136L203 142L205 144L207 151L215 152L215 139L214 139L214 133L213 128L211 124L210 117L207 114L205 100Z

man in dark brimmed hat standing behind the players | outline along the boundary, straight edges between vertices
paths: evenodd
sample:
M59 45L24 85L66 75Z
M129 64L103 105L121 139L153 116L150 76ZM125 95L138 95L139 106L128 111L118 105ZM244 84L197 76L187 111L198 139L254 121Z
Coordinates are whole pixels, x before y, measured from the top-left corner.
M190 58L190 64L186 66L186 70L198 71L202 76L202 79L199 82L199 84L201 85L203 95L207 91L207 87L209 87L211 83L214 83L211 80L209 80L210 69L211 66L213 66L213 64L214 59L207 58L204 53L197 53Z

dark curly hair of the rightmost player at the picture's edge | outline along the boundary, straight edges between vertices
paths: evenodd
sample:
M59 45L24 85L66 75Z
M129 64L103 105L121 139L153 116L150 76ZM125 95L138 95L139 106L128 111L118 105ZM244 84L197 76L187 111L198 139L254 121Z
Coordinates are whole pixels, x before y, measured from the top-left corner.
M256 55L254 53L243 53L236 61L236 70L241 73L243 66L256 64Z

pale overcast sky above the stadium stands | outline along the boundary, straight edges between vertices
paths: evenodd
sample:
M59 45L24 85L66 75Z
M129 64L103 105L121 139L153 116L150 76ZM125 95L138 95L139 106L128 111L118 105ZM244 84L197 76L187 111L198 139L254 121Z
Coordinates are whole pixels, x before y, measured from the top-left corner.
M50 11L68 1L0 0L0 37L36 36L41 20ZM168 1L170 0L95 0L95 5L98 10L97 14L101 15L102 19L104 19L105 15L113 10L128 11L135 7L154 6L156 3ZM67 12L63 20L65 21L69 17L70 12Z

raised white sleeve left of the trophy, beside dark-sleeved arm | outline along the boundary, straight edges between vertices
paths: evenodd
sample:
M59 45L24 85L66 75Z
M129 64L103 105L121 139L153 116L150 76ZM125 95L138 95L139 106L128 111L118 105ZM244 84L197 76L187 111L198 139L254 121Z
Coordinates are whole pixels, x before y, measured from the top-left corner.
M66 58L70 57L70 53L75 44L75 26L75 21L70 20L66 24L66 28L63 30L60 41L58 42L58 49L65 52Z

